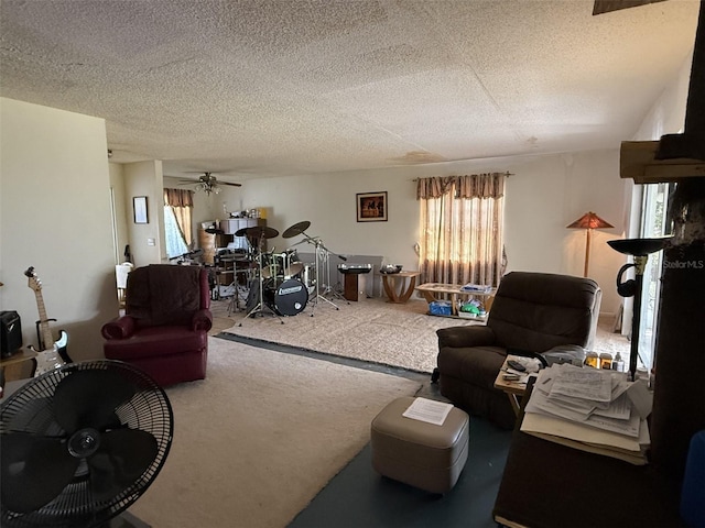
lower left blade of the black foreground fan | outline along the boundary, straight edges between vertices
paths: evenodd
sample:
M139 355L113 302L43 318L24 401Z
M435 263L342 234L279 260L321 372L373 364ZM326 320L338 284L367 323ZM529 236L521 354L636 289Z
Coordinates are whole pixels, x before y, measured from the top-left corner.
M70 483L78 459L58 438L2 435L2 507L29 514L52 502Z

